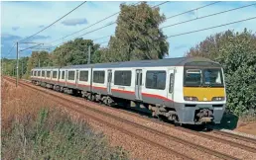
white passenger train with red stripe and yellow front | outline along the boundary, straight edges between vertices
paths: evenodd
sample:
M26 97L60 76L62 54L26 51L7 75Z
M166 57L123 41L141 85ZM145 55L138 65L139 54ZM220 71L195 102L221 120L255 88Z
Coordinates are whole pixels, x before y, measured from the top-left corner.
M176 124L220 123L226 104L223 68L202 57L36 67L31 81L107 106L143 109Z

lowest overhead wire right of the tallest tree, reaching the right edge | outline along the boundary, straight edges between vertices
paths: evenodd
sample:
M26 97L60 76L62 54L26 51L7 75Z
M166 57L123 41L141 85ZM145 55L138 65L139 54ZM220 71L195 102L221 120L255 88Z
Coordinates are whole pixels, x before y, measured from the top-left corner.
M198 33L198 32L202 32L202 31L206 31L206 30L210 30L210 29L215 29L215 28L220 28L220 27L224 27L224 26L228 26L228 25L233 25L233 24L237 24L237 23L241 23L241 22L245 22L245 21L249 21L249 20L253 20L253 19L256 19L256 17L243 19L243 20L239 20L239 21L234 21L234 22L231 22L231 23L222 24L222 25L218 25L218 26L213 26L213 27L210 27L210 28L195 30L195 31L187 32L187 33L172 35L172 36L169 36L167 38L170 39L170 38L174 38L174 37L180 37L180 36L189 35L189 34L193 34L193 33Z

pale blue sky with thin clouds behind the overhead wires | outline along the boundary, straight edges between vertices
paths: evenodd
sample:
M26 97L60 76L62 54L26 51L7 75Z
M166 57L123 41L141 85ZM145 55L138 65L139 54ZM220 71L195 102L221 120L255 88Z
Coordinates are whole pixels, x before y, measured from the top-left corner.
M6 58L16 57L16 47L12 49L13 44L17 40L22 40L28 38L31 35L36 34L40 30L44 29L48 25L52 24L59 18L63 17L67 12L79 5L81 1L73 2L1 2L1 56ZM43 31L39 35L25 41L33 42L44 42L44 45L40 45L36 48L46 48L49 46L54 46L60 44L67 40L72 40L77 38L87 32L93 31L107 24L115 22L118 14L91 27L85 29L73 36L64 38L74 32L84 29L95 22L104 19L118 11L120 11L119 5L121 3L133 4L134 2L99 2L90 1L83 4L81 7L64 17L57 24L51 28ZM150 6L154 6L162 3L161 1L151 1L148 2ZM181 14L183 12L205 6L207 4L213 3L210 1L194 1L194 2L168 2L161 6L160 13L165 15L167 18L174 15ZM219 2L208 7L198 9L196 11L189 12L174 18L167 19L160 28L181 23L184 21L192 20L195 18L203 17L206 15L250 5L256 2ZM239 10L211 16L204 19L198 19L189 23L184 23L169 28L164 28L163 33L167 37L179 35L183 33L188 33L195 30L200 30L204 28L214 27L222 24L227 24L247 18L255 17L256 4L254 6L245 7ZM184 56L187 51L190 50L192 46L199 43L201 40L205 40L206 37L214 35L216 33L224 32L227 30L233 30L235 32L242 32L244 28L247 28L252 33L256 31L256 19L233 24L230 26L225 26L221 28L215 28L203 32L188 34L179 37L173 37L168 39L169 41L169 55L167 57L181 57ZM98 38L114 35L116 25L111 25L96 32L86 34L81 38L87 40L95 40ZM64 38L64 39L62 39ZM61 40L59 40L61 39ZM57 40L57 41L54 41ZM109 38L104 38L101 40L95 40L95 42L101 43L108 41ZM54 41L54 42L52 42ZM21 43L19 49L24 49L26 47L32 46L34 44ZM101 46L106 46L107 42L102 43ZM54 49L54 47L52 48ZM33 50L26 50L20 52L20 56L29 56Z

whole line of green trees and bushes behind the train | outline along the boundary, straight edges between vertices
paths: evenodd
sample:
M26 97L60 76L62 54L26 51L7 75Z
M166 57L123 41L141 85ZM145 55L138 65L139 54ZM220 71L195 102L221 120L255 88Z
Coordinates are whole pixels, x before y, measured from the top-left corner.
M115 35L110 38L107 47L100 47L93 40L75 39L52 52L33 51L30 57L20 58L20 77L29 78L30 70L38 66L86 64L89 45L91 63L161 59L169 54L167 36L159 28L166 17L160 14L159 8L141 3L122 4L120 9ZM246 29L241 33L218 33L196 44L185 56L202 56L219 62L225 73L228 111L236 115L255 113L255 34ZM15 63L15 60L3 59L4 74L15 75Z

